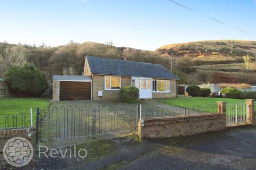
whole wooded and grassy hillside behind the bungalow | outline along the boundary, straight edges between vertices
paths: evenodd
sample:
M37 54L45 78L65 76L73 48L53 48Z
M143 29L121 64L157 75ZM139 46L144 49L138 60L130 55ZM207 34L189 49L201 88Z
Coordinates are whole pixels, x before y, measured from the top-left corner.
M81 75L84 56L101 56L121 60L161 64L180 77L180 84L201 84L206 82L256 84L256 41L212 40L182 44L164 45L155 51L130 47L116 47L113 43L75 43L47 47L44 44L13 45L0 43L0 61L16 54L25 55L42 70L47 79L52 75ZM252 64L247 73L243 56L250 55ZM13 58L10 61L15 61ZM12 63L5 62L0 68L0 78ZM15 63L14 63L15 64Z

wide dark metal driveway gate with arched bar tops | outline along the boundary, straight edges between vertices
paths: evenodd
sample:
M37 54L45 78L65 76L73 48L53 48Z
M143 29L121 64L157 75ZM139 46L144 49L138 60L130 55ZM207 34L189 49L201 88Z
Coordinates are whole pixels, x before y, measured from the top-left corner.
M137 130L138 107L46 107L38 115L40 140L90 137Z

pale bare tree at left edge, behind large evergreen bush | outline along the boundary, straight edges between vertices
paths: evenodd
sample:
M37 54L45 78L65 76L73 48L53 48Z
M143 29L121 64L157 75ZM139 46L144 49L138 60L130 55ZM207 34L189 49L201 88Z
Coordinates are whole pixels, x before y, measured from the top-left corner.
M25 64L27 62L25 53L26 49L20 45L6 48L4 53L0 54L0 77L3 76L9 66Z

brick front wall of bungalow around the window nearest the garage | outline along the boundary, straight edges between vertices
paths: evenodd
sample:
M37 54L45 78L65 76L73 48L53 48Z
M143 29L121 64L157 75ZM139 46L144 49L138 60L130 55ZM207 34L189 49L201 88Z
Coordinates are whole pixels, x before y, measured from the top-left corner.
M92 99L98 100L98 91L102 91L102 98L100 100L118 100L119 90L104 90L105 76L95 75L92 76ZM121 78L121 87L131 86L130 77Z

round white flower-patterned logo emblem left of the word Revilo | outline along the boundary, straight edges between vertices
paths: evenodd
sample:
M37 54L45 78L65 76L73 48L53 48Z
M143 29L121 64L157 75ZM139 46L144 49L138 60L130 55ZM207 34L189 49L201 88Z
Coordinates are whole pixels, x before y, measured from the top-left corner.
M33 158L34 149L31 143L21 137L8 140L3 149L3 155L7 163L15 167L27 165Z

